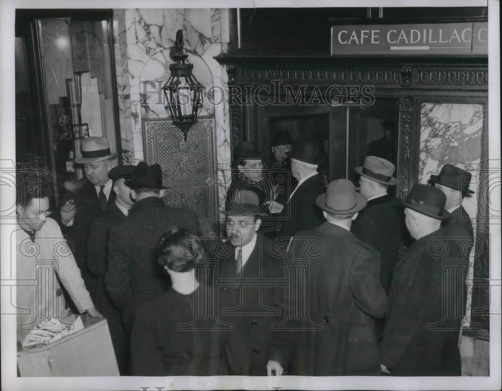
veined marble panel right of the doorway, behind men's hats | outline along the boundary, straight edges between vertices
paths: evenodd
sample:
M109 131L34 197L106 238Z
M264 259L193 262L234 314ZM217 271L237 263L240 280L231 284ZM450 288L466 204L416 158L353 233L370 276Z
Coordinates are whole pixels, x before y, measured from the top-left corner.
M481 142L483 132L482 104L422 103L420 110L420 158L418 180L427 183L431 175L439 174L445 164L451 164L472 174L469 188L475 192L464 198L463 207L469 214L476 234L477 196ZM478 252L476 250L476 252ZM474 256L471 254L467 277L467 316L470 321Z

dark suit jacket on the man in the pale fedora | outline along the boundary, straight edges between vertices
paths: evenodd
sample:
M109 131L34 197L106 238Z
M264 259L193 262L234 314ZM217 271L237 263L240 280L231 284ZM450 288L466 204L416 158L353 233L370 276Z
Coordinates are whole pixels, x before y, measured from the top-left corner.
M61 232L73 248L73 256L77 263L85 286L95 299L95 291L97 287L97 277L91 273L87 266L87 243L89 239L89 228L98 214L103 210L96 193L96 188L87 179L79 181L82 185L75 192L68 192L64 195L61 204L66 200L73 199L75 202L76 213L73 218L73 225L67 227L61 222L61 214L55 213L55 220L58 222ZM108 196L108 205L115 202L115 193L110 191Z

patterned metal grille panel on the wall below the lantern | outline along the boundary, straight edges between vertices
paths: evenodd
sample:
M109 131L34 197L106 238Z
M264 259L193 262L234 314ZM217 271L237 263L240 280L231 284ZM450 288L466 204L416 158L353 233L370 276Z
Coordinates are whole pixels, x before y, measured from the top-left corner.
M143 120L145 161L162 167L164 201L191 209L204 235L218 232L214 117L199 117L183 140L183 133L169 118Z

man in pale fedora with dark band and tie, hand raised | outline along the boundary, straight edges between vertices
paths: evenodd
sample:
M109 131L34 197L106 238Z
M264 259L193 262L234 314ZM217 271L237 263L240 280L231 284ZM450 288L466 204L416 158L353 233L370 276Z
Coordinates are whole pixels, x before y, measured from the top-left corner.
M75 158L75 164L83 165L86 180L66 186L65 202L57 217L61 231L71 243L75 261L84 279L85 286L95 298L97 277L87 266L87 244L89 228L94 218L115 200L112 181L108 172L113 166L116 153L110 151L104 137L88 137L82 140L82 154Z

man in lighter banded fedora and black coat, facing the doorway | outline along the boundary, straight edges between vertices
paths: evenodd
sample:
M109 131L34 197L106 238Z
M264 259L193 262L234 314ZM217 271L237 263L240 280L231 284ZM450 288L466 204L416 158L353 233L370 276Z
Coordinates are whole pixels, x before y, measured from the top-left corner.
M394 164L375 156L364 159L355 171L360 175L359 192L366 198L366 207L352 224L352 233L380 254L380 283L387 293L391 288L392 271L399 259L403 239L404 215L399 201L388 194L389 186L397 184L393 178Z

